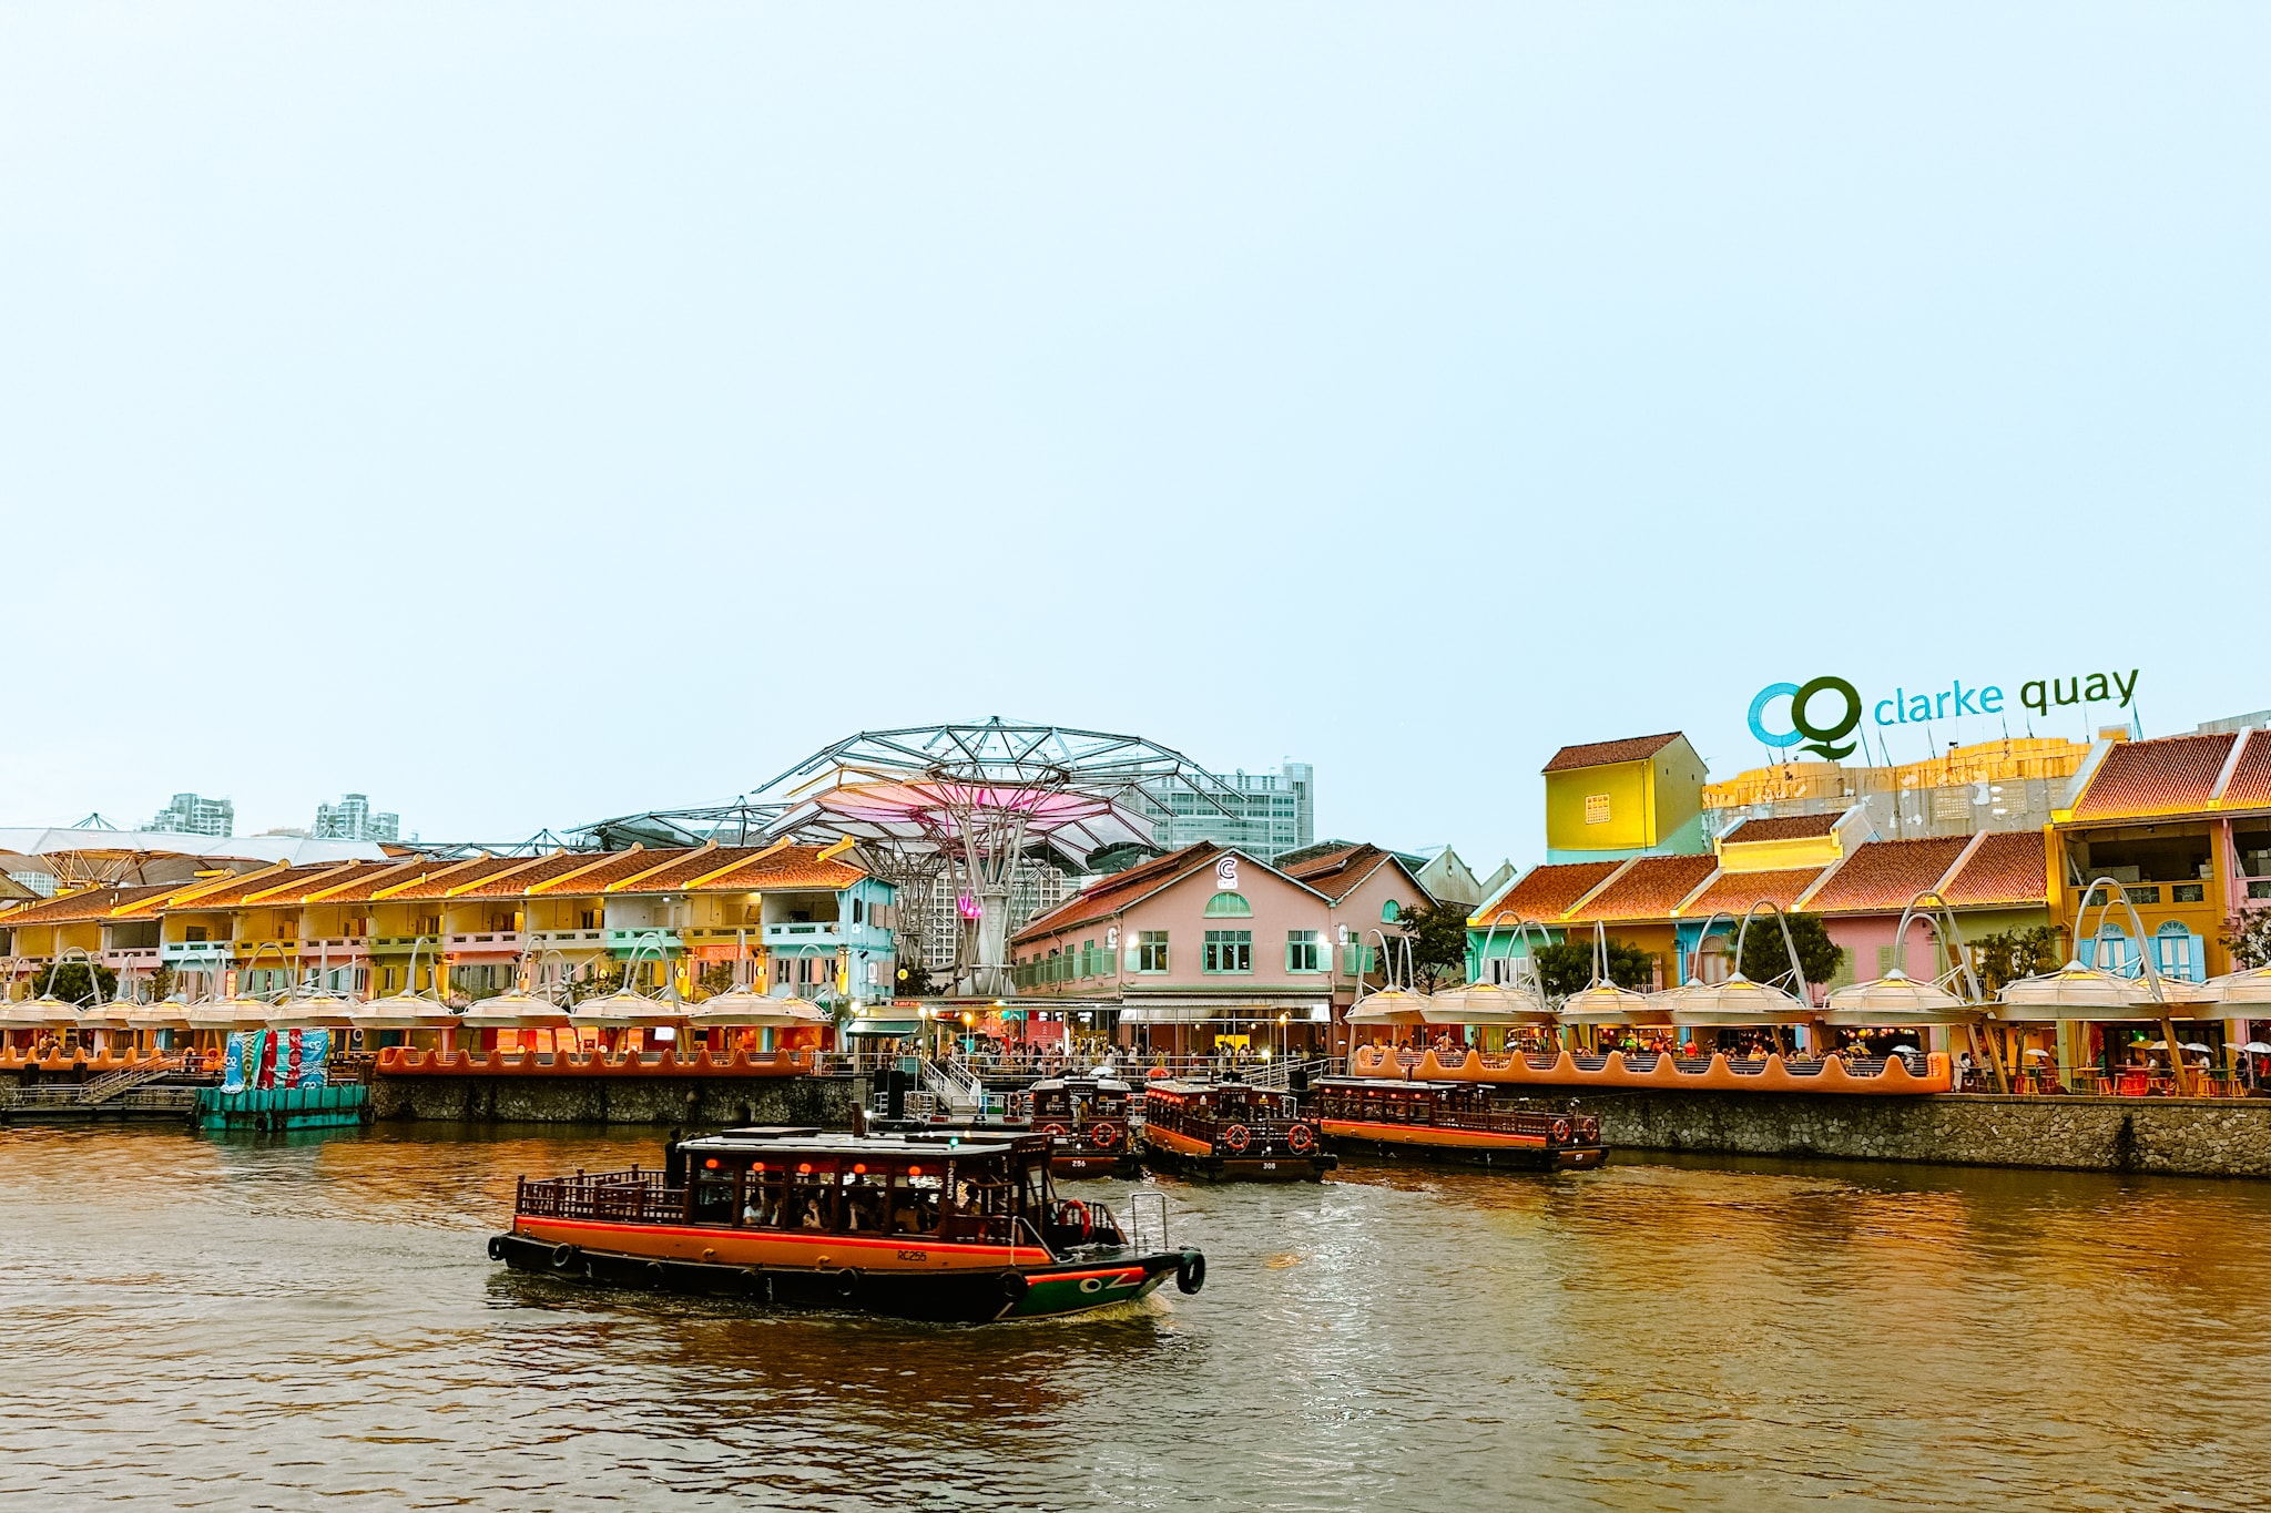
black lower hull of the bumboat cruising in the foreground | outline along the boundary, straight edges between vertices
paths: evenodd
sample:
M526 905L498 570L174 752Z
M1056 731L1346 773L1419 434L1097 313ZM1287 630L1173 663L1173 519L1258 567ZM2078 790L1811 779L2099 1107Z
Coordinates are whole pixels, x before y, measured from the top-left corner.
M1006 1318L1051 1318L1133 1302L1176 1277L1197 1291L1206 1263L1197 1252L1115 1252L1108 1257L1049 1263L997 1266L736 1266L625 1250L620 1234L593 1234L581 1245L563 1234L495 1234L488 1257L513 1270L602 1286L747 1298L788 1309L836 1309L886 1313L929 1322L995 1322ZM840 1236L838 1236L840 1239ZM661 1248L656 1248L661 1250ZM715 1250L711 1250L715 1254ZM1192 1270L1197 1266L1197 1270ZM1195 1277L1195 1282L1192 1282Z

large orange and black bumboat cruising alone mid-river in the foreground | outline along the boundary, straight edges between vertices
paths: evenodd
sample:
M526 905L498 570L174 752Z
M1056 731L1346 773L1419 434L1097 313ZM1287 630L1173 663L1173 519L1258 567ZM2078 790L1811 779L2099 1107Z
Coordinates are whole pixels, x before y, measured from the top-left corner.
M620 1286L940 1322L1042 1318L1206 1286L1206 1257L1138 1245L1056 1198L1042 1134L727 1130L663 1170L520 1180L488 1257Z

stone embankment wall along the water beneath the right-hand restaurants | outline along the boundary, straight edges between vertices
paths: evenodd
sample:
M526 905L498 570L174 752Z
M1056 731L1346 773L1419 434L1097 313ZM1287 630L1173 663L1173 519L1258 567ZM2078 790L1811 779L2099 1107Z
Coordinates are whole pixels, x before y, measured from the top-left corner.
M1599 1116L1612 1148L2271 1177L2271 1098L1603 1093L1567 1102Z

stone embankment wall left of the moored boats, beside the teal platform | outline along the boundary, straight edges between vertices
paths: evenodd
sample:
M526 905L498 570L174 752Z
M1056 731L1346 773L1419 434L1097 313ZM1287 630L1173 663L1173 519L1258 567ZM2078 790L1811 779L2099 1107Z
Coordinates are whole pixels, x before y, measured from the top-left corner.
M543 1125L820 1125L849 1130L865 1077L418 1077L382 1075L377 1118Z

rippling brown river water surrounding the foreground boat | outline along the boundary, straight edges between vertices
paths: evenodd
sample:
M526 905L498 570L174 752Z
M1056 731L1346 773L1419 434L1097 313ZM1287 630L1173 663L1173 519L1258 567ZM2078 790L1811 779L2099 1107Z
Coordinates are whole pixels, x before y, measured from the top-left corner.
M2271 1184L1170 1182L1201 1295L981 1329L486 1259L518 1173L656 1150L0 1134L0 1506L2271 1506Z

